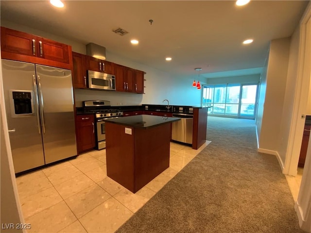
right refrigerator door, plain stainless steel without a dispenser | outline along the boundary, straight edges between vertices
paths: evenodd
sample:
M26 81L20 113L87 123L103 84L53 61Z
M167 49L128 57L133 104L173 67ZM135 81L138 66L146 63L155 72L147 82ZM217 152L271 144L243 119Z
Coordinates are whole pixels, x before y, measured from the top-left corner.
M71 71L35 65L45 163L77 155Z

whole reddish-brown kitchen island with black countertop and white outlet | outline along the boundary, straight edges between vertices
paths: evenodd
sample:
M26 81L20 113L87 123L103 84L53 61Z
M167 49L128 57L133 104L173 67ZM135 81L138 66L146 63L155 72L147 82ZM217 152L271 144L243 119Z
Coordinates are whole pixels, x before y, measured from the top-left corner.
M133 193L170 166L171 123L167 116L105 119L107 176Z

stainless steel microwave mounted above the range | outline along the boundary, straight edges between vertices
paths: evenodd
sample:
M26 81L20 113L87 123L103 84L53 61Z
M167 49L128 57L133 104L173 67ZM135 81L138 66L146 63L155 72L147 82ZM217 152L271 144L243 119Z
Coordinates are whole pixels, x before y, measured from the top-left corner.
M88 88L100 90L116 90L114 75L88 70Z

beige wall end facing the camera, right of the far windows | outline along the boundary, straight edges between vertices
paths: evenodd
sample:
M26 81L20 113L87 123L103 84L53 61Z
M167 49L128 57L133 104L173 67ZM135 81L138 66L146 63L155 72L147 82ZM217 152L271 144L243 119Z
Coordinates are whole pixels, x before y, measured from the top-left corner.
M271 41L266 78L264 102L259 96L261 106L258 114L262 114L259 125L259 151L277 154L280 122L286 89L287 69L289 62L290 38ZM261 81L261 87L264 82ZM260 94L263 93L262 89Z

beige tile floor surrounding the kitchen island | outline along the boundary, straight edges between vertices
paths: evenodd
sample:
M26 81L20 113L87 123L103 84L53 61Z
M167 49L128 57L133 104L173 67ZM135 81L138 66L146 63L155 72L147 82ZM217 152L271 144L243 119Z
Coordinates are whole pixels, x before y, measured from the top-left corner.
M135 194L107 177L105 150L17 177L28 232L113 233L209 143L192 150L171 142L170 167Z

